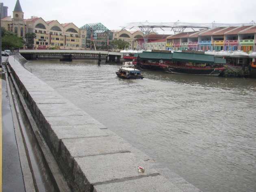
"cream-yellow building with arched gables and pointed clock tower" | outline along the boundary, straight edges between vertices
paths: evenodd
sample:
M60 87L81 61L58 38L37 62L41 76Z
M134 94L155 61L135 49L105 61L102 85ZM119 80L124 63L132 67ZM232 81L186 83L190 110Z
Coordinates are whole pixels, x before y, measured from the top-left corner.
M19 0L16 2L13 18L5 17L1 22L6 30L24 39L26 33L34 32L35 49L85 49L86 30L79 29L73 23L60 24L57 20L44 21L41 17L24 19Z

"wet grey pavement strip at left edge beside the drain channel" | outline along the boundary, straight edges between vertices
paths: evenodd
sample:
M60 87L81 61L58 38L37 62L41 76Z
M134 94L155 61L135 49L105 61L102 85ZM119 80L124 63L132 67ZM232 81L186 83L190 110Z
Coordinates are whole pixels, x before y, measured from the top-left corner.
M1 69L1 68L0 68ZM7 94L7 84L4 74L0 78L0 100L2 101L2 114L0 114L0 179L2 187L0 192L25 192L20 157L13 127L12 112ZM1 87L2 86L2 87Z

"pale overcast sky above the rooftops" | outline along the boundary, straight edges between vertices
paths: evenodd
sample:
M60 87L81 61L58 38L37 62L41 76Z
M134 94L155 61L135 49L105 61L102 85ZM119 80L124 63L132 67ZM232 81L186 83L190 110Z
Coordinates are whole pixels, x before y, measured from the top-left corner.
M16 0L2 0L12 15ZM20 0L25 18L73 22L81 27L101 22L119 29L129 22L256 22L256 0Z

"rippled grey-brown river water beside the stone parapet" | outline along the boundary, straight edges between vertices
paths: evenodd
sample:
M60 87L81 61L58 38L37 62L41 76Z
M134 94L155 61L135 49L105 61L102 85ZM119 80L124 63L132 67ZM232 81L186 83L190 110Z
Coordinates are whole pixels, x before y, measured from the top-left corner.
M256 79L143 71L95 60L31 61L76 106L204 192L256 191Z

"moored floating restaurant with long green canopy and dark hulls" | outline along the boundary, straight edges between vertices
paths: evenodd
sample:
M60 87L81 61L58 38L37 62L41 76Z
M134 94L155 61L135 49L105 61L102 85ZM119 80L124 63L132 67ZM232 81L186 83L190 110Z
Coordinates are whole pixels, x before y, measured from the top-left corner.
M141 69L165 70L169 73L201 76L219 76L226 59L203 52L143 52L137 57Z

